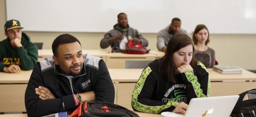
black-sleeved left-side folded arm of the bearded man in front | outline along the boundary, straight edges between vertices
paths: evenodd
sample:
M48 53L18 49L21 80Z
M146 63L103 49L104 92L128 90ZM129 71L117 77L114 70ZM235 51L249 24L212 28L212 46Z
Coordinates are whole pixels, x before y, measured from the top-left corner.
M38 86L45 87L39 62L35 65L35 68L32 71L25 92L25 106L29 117L45 116L75 109L76 106L73 95L56 97L56 99L41 100L39 96L35 94L35 88L38 88Z

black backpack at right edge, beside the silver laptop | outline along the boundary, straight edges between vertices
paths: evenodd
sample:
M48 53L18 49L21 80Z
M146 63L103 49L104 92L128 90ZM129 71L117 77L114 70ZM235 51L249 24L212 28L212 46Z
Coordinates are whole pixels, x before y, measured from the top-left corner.
M249 100L244 100L248 94ZM239 94L239 99L230 114L231 117L256 117L256 89Z

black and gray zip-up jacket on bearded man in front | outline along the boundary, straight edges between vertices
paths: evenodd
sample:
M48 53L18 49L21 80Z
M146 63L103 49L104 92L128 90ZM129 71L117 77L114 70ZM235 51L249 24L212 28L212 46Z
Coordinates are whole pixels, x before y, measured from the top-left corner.
M26 112L29 117L39 117L76 109L72 94L94 91L96 100L114 102L115 89L105 62L99 57L84 54L81 74L69 80L55 65L52 57L36 63L25 93ZM56 99L41 100L35 88L48 88Z

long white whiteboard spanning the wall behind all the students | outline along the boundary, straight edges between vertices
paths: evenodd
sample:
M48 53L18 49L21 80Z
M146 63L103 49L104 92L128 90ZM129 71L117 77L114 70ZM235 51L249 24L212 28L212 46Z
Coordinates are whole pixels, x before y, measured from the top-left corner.
M107 32L125 12L131 27L157 33L179 17L192 33L256 34L256 0L6 0L7 20L24 31Z

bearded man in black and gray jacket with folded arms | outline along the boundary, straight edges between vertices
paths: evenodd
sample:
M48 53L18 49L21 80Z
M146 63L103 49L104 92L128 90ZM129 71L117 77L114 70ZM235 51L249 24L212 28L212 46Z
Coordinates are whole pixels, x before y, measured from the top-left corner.
M53 56L39 61L29 79L25 106L29 117L73 111L86 100L114 102L114 86L104 61L82 55L70 34L52 43Z

